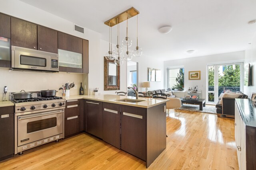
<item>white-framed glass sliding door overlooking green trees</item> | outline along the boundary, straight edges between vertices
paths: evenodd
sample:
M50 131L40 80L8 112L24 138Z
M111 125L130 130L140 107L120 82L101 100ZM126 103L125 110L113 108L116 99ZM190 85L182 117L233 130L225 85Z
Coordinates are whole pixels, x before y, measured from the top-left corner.
M206 102L216 104L226 91L243 91L243 63L207 65Z

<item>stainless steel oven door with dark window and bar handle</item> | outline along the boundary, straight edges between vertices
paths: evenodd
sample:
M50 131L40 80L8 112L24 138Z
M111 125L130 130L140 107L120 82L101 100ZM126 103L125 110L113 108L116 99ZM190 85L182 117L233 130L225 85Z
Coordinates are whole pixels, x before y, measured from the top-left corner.
M18 146L62 134L63 113L59 109L18 116Z

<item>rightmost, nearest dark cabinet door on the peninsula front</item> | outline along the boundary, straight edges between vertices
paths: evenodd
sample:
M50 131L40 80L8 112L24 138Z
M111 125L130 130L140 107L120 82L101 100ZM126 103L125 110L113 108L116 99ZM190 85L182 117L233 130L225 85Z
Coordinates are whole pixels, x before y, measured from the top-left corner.
M146 160L146 109L121 105L121 149Z

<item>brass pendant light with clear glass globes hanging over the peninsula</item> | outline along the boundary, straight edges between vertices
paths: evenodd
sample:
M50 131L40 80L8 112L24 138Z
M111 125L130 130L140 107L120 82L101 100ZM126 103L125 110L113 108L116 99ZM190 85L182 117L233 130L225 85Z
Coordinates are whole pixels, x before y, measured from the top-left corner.
M138 12L135 8L130 8L124 12L122 12L121 14L119 14L118 16L115 16L114 18L104 22L104 24L109 25L110 27L113 27L114 25L118 25L118 36L117 36L117 45L114 48L114 51L112 51L112 49L110 48L107 55L109 55L109 53L112 52L112 57L113 55L116 54L115 56L115 64L116 65L122 65L123 60L126 61L130 61L132 59L132 56L134 55L135 57L140 57L142 55L142 49L140 47L138 47L138 17L137 17L137 46L135 47L133 53L131 53L128 49L128 47L131 47L132 45L132 40L128 37L128 19L132 18L133 16L136 16L140 14L140 12ZM126 37L124 38L124 40L122 41L122 45L124 45L126 47L126 52L124 53L123 57L120 57L120 54L122 53L122 47L119 44L119 23L121 23L122 21L126 21ZM108 57L110 58L110 57Z

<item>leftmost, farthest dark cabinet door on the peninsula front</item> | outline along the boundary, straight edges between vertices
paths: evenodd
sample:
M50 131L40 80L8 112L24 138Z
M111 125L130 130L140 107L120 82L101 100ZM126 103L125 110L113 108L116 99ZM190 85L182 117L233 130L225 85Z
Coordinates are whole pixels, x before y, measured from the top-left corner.
M102 139L102 102L86 100L86 129Z

